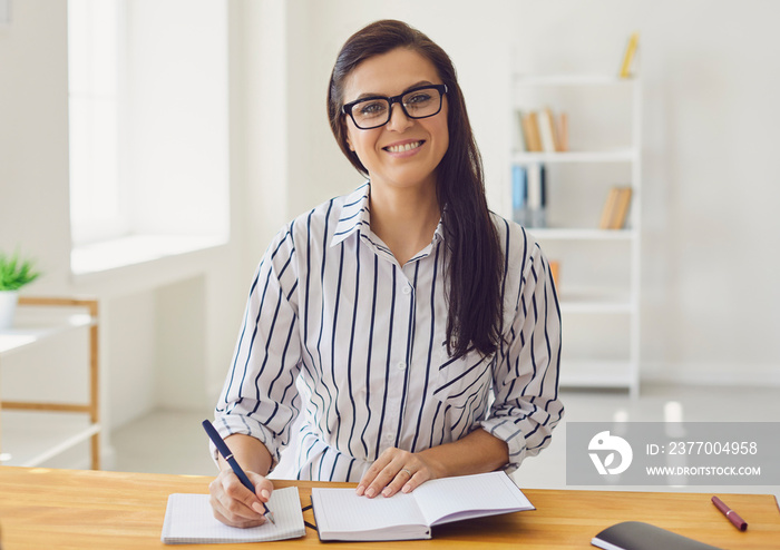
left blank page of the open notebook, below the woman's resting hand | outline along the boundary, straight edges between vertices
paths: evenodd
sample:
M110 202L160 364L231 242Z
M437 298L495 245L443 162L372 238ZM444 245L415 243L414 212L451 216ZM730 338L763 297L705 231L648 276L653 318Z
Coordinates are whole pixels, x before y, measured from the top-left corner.
M393 526L423 526L411 494L358 497L354 489L312 489L320 531L372 531Z

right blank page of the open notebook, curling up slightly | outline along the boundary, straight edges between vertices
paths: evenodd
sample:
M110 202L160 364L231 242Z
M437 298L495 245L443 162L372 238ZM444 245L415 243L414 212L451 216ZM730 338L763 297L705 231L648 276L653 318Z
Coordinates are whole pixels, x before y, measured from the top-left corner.
M504 472L431 480L411 494L415 494L429 526L478 518L496 511L534 510L530 501ZM477 510L486 513L469 512Z

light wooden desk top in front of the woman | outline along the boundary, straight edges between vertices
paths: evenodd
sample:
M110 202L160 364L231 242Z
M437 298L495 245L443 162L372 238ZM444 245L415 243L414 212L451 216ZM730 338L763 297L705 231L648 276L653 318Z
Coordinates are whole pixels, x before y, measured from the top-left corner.
M173 548L159 541L169 493L205 493L212 478L45 470L0 466L0 524L6 550ZM310 503L311 488L295 483ZM339 485L347 487L347 483ZM537 510L442 526L433 539L411 542L349 542L320 547L316 533L262 548L511 548L586 549L591 538L618 521L637 520L670 529L721 548L768 549L780 541L780 511L768 494L729 494L724 500L750 524L740 532L705 493L607 491L524 491ZM311 511L304 519L313 523ZM238 550L256 544L198 544Z

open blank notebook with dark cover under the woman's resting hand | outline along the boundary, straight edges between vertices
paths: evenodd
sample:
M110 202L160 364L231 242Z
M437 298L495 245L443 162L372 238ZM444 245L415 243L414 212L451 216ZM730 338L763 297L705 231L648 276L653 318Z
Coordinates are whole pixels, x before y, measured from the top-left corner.
M535 509L504 472L430 480L387 499L313 488L312 507L322 541L430 539L433 526Z

